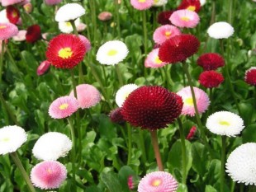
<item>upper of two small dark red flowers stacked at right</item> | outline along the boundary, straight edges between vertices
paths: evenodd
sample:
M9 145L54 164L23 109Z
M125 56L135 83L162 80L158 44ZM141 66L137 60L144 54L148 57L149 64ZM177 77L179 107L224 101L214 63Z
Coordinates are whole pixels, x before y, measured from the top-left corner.
M201 66L205 71L210 71L223 67L225 65L225 60L220 54L208 53L202 54L197 59L197 64Z

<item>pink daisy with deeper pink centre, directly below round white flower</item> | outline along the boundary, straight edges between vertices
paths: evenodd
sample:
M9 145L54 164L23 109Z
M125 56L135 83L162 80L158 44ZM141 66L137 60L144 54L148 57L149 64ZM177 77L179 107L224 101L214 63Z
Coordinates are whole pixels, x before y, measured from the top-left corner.
M40 162L31 170L31 181L41 190L59 188L66 178L67 169L60 162Z

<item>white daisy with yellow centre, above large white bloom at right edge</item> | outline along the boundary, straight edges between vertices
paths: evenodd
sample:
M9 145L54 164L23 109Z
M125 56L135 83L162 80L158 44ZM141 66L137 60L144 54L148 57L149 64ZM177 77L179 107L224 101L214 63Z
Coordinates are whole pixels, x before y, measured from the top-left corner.
M219 111L207 118L206 128L211 133L235 137L244 129L244 121L239 115L229 111Z

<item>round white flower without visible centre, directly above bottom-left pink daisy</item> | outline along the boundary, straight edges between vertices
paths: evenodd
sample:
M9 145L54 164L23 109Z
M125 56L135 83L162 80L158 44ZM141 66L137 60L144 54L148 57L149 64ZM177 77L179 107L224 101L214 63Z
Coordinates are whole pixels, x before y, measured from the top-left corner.
M55 161L59 157L65 157L71 148L72 142L65 134L49 132L40 136L32 152L39 160Z

